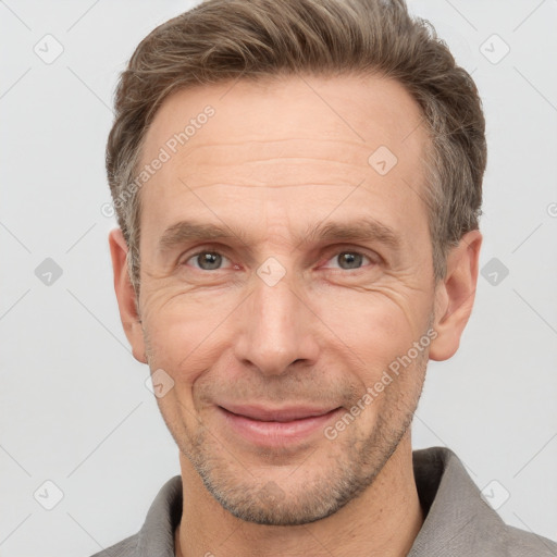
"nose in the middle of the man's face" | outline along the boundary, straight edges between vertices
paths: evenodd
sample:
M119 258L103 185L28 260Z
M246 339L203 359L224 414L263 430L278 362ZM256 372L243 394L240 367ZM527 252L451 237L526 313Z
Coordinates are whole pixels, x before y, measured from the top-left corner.
M318 359L319 319L286 277L270 286L255 277L256 286L237 319L235 355L264 375L280 375Z

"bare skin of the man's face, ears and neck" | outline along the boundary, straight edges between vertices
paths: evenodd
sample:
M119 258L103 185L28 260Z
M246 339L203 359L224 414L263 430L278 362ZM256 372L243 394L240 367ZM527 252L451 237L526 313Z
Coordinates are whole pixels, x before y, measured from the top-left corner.
M180 448L176 555L407 555L424 518L409 424L428 360L458 348L481 234L462 237L435 283L422 199L429 139L394 81L283 77L178 91L156 115L144 163L207 104L214 116L141 188L137 307L126 244L110 234L133 354L174 381L158 404ZM368 163L379 146L398 159L385 175ZM363 219L391 228L398 247L307 234ZM181 221L234 232L162 250ZM202 249L211 269L195 256ZM273 286L257 273L271 257L285 271ZM225 401L346 413L428 331L429 347L334 440L319 429L250 444L219 410Z

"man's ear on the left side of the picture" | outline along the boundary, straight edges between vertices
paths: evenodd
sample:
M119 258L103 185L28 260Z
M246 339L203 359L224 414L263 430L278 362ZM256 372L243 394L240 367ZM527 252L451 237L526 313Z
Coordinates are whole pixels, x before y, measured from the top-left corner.
M120 228L109 234L110 255L114 271L114 290L116 292L120 319L124 332L132 345L134 358L147 363L145 355L145 339L139 315L137 314L136 295L127 269L127 244Z

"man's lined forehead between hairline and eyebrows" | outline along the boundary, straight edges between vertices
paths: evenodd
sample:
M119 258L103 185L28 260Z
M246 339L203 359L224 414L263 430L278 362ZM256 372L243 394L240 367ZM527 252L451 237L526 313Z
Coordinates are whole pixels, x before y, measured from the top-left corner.
M287 205L313 203L315 195L331 205L342 188L362 184L352 203L376 201L385 211L388 198L392 208L410 202L423 216L429 139L421 122L404 87L379 76L240 79L180 90L163 102L144 144L141 168L162 151L165 160L140 190L141 226L178 221L200 195L228 213L264 203L268 214L272 207L293 221L305 213L293 216Z

